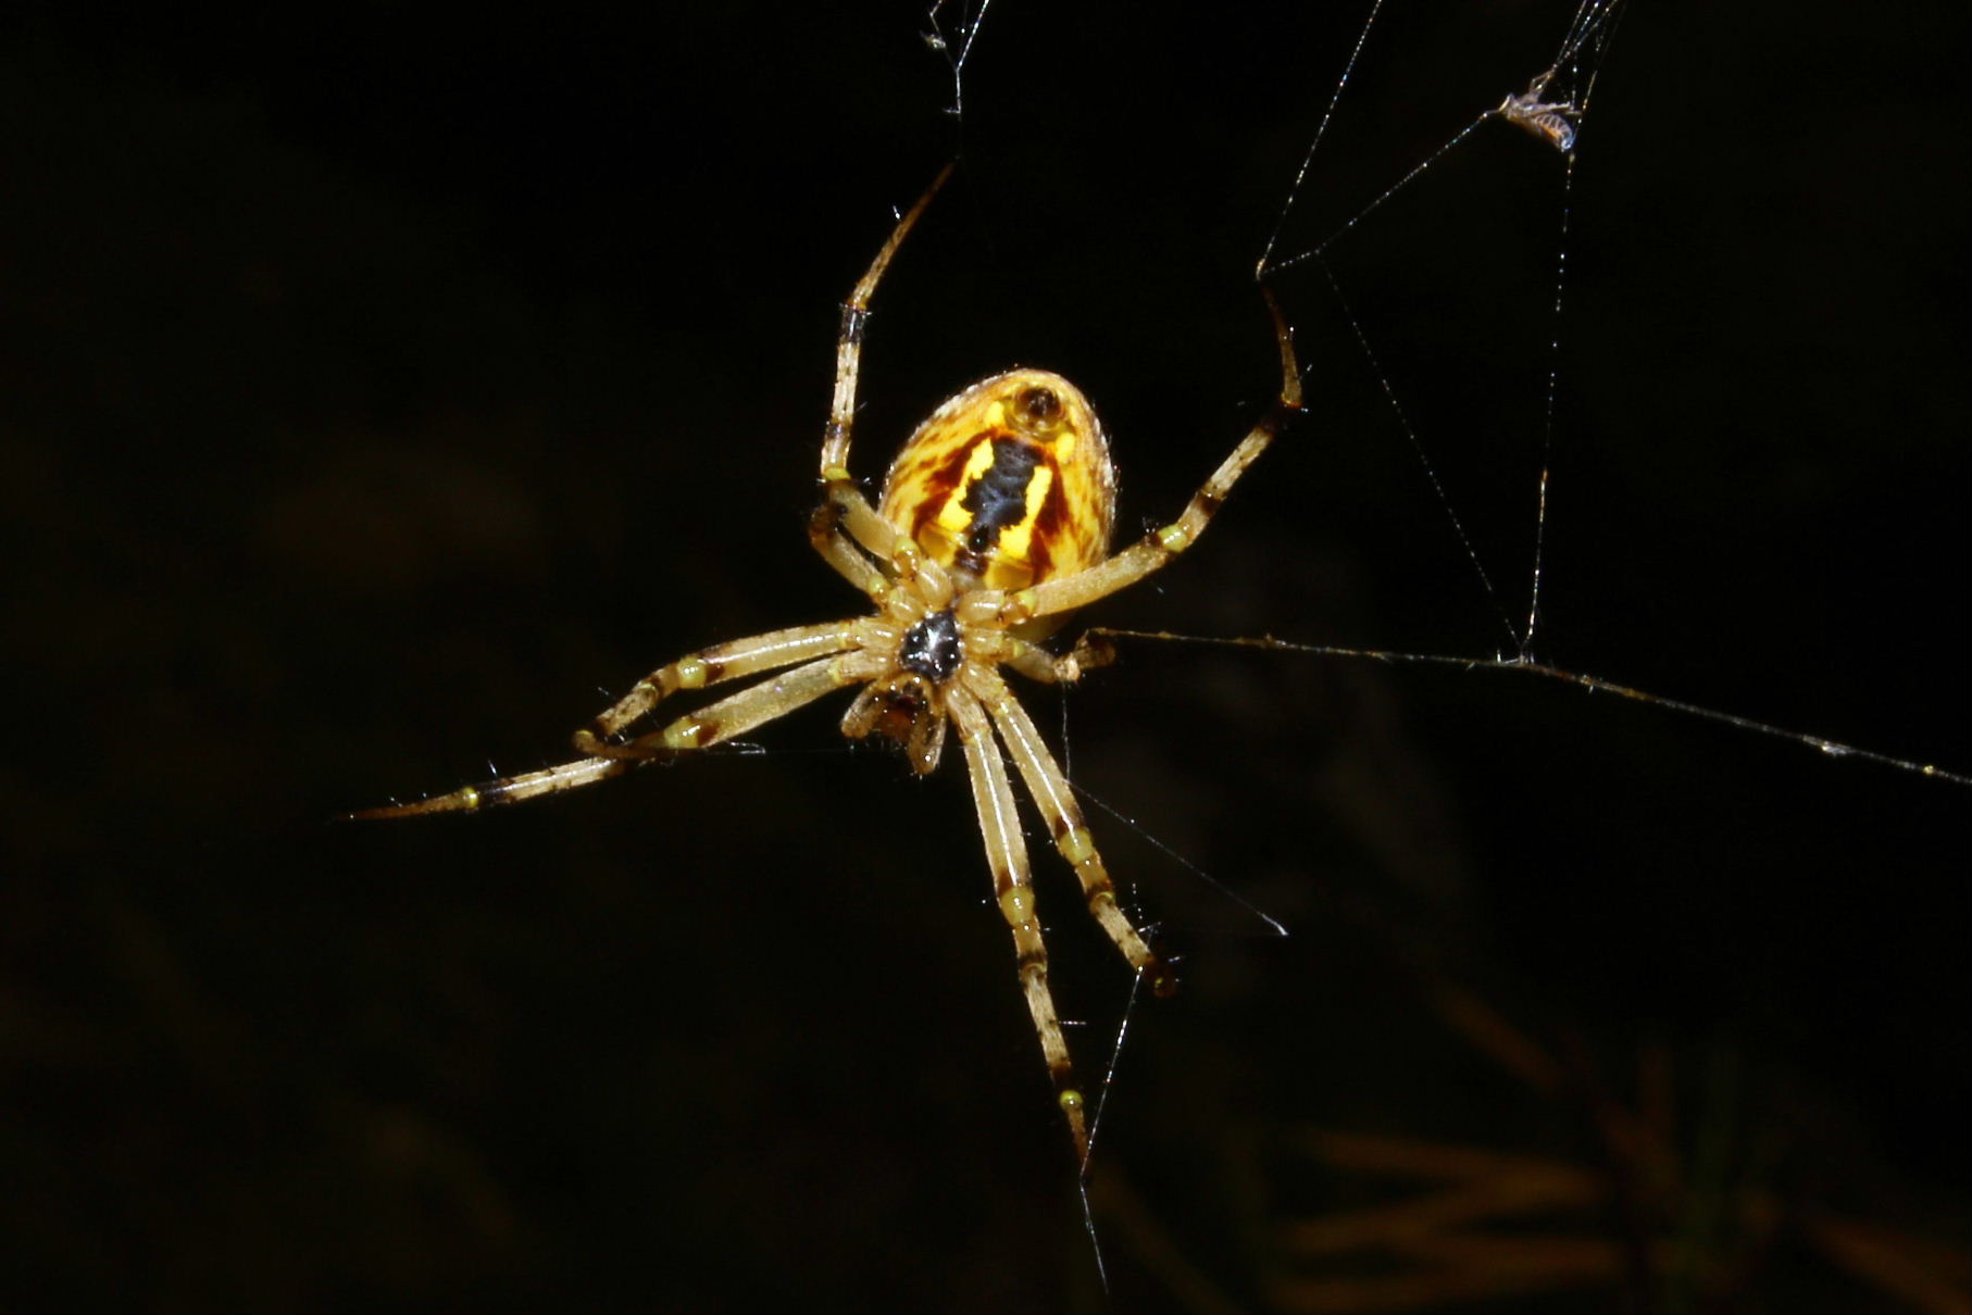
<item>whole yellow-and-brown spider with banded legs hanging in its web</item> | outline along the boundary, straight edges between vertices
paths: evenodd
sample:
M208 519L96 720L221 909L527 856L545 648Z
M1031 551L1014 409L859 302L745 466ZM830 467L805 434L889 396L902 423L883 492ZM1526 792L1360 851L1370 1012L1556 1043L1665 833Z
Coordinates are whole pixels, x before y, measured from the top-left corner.
M872 507L848 469L870 300L951 170L947 166L897 221L844 304L836 339L834 402L822 438L822 503L809 520L809 542L870 597L876 611L734 639L659 666L576 731L582 757L570 763L349 816L471 812L580 789L710 749L852 684L864 688L842 718L842 733L895 741L917 773L939 765L947 726L956 726L998 907L1014 933L1020 984L1075 1151L1087 1161L1087 1100L1075 1084L1047 988L1047 944L1006 757L1014 759L1055 850L1081 879L1089 913L1130 968L1160 996L1173 990L1173 980L1116 905L1067 775L1000 668L1012 666L1041 682L1073 682L1106 662L1106 649L1094 643L1055 657L1037 641L1077 607L1136 584L1197 540L1238 477L1302 408L1300 371L1286 319L1262 288L1280 347L1278 402L1219 463L1177 520L1116 554L1108 550L1116 505L1108 440L1081 390L1049 371L1014 369L945 400L899 450L881 503ZM680 690L779 668L789 670L669 724L655 722L663 700Z

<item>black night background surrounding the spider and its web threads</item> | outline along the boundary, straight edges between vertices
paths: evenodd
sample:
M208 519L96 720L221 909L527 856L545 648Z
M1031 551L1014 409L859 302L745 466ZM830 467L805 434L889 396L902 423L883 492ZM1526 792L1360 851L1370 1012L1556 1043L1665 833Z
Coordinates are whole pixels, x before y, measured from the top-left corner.
M836 302L954 148L858 469L1047 365L1106 418L1122 526L1169 517L1272 388L1250 268L1357 22L1217 8L994 6L962 120L911 6L6 20L0 1303L1098 1301L954 765L850 753L828 704L530 808L331 818L558 761L657 662L856 607L803 542ZM1282 248L1566 20L1392 10ZM1572 191L1546 657L1972 765L1964 26L1625 16ZM1507 647L1560 185L1487 124L1331 260L1501 603L1303 264L1309 416L1089 619ZM1785 1226L1747 1260L1747 1193L1964 1244L1964 789L1199 645L1126 647L1067 714L1081 785L1294 929L1098 814L1187 974L1130 1015L1098 1145L1118 1307L1207 1303L1177 1258L1294 1305L1282 1226L1404 1191L1307 1128L1593 1163L1639 1055L1672 1143L1712 1138L1682 1201L1745 1262L1714 1305L1903 1309ZM1092 1080L1128 980L1037 869Z

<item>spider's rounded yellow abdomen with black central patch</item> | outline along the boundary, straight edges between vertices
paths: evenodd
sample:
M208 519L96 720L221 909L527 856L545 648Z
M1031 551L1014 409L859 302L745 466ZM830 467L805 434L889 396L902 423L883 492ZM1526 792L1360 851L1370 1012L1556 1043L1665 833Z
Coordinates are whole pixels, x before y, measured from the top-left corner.
M1008 371L949 398L883 479L883 519L988 589L1023 589L1108 556L1116 471L1089 398Z

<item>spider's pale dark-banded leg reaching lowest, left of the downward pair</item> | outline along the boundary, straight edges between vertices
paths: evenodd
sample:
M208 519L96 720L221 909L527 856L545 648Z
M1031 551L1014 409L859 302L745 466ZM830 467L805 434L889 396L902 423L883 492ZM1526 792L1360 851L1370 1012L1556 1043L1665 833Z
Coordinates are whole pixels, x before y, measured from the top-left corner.
M1055 1100L1069 1116L1069 1136L1075 1155L1089 1157L1089 1118L1075 1069L1069 1063L1069 1043L1061 1035L1055 996L1047 990L1047 942L1041 940L1041 919L1033 905L1033 883L1027 873L1027 844L1020 834L1014 810L1014 785L1006 777L1006 761L992 739L986 710L962 686L947 696L947 708L958 726L958 743L966 751L972 775L972 802L980 814L980 834L986 840L986 862L992 867L994 895L1000 915L1014 929L1014 954L1020 958L1020 988L1033 1015L1033 1031L1041 1037L1041 1057L1055 1080Z

